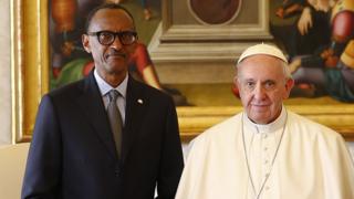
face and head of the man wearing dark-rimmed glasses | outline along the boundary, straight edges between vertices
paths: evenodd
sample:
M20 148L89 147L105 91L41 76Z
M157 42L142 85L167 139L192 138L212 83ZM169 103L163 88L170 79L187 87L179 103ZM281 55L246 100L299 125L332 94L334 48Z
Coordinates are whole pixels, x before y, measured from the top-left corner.
M92 18L88 32L124 32L135 31L133 19L121 9L102 9ZM92 53L98 74L105 78L107 75L126 74L128 59L135 50L135 43L123 45L118 39L110 45L101 44L96 35L83 35L83 45Z

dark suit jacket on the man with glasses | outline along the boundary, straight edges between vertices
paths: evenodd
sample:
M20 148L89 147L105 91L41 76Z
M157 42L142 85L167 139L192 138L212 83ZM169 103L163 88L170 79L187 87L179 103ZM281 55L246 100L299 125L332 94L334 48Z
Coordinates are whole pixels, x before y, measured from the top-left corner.
M122 158L91 73L43 96L22 198L174 198L183 170L171 98L129 77Z

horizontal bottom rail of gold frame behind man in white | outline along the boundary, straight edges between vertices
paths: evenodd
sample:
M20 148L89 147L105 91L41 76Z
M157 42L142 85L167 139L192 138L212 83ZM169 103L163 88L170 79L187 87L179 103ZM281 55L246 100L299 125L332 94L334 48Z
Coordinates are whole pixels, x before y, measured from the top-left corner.
M354 142L353 104L303 104L285 105L285 107L341 133L345 140ZM188 142L241 111L241 106L177 107L181 139Z

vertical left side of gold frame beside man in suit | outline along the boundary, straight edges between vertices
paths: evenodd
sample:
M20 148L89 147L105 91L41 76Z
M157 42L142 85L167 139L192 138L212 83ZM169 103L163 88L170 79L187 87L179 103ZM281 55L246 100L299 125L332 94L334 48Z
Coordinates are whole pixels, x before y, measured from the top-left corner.
M11 1L12 142L28 142L49 90L48 1Z

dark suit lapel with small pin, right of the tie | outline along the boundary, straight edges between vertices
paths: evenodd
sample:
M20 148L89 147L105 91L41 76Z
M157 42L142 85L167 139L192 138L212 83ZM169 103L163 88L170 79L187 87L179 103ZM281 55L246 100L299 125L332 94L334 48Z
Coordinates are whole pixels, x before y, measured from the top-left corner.
M128 155L134 140L139 137L139 128L142 127L147 105L148 98L145 95L144 87L129 76L126 96L125 127L123 133L123 161Z

